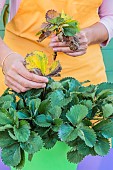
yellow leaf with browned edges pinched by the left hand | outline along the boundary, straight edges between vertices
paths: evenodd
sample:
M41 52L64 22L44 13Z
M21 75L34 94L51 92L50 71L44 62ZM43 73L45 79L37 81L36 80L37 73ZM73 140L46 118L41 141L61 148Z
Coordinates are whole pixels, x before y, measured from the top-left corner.
M38 75L56 76L61 71L59 61L54 61L49 67L48 58L42 51L34 51L25 58L26 68Z

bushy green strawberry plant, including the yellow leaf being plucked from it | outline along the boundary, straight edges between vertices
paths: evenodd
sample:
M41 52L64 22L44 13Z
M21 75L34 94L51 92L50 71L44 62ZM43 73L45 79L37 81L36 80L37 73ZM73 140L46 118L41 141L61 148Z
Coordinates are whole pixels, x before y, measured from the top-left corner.
M27 55L25 66L35 73L51 74L42 52ZM113 84L84 86L72 77L60 81L48 78L45 89L19 94L7 89L0 97L1 158L10 167L22 169L25 153L31 161L36 152L53 148L57 141L70 146L67 159L72 163L89 154L104 156L109 152Z

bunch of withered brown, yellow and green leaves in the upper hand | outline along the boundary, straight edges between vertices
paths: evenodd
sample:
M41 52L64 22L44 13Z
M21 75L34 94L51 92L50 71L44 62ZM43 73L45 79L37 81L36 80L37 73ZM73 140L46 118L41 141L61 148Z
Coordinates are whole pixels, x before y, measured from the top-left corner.
M55 10L47 11L46 22L42 23L41 30L36 34L39 36L38 42L43 41L45 38L52 34L58 36L60 42L66 42L71 50L75 51L79 47L79 39L76 33L79 32L78 22L73 20L72 17L62 11L58 13ZM57 53L54 53L54 60Z

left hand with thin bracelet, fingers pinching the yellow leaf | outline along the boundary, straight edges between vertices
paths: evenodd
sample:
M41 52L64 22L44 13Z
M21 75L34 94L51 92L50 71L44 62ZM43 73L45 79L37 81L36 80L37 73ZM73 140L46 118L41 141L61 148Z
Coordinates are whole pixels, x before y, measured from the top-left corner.
M48 79L30 73L23 65L24 58L19 54L11 54L4 62L5 84L17 93L32 88L44 88Z

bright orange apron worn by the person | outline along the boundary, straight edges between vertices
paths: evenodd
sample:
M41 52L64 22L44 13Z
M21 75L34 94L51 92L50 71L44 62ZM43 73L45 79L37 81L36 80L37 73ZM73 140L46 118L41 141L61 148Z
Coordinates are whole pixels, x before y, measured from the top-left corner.
M88 27L99 21L98 7L102 0L22 0L19 10L7 24L4 41L14 51L25 56L33 50L44 51L51 60L52 49L48 46L50 39L37 43L35 34L45 21L45 13L49 9L73 16L79 21L80 28ZM97 84L106 81L105 68L99 45L88 47L87 54L79 57L58 53L57 59L63 67L62 77L72 76L79 81L90 80ZM2 77L2 73L0 73ZM1 81L3 78L1 78ZM5 88L0 86L0 92Z

